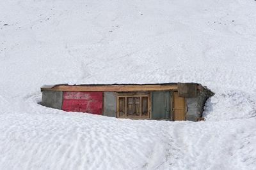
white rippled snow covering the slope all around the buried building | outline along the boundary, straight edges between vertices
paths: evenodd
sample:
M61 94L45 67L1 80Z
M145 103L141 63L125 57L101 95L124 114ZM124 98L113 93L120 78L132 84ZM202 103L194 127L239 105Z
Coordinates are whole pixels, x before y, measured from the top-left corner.
M256 1L0 1L0 169L256 169ZM194 81L205 122L45 108L54 83Z

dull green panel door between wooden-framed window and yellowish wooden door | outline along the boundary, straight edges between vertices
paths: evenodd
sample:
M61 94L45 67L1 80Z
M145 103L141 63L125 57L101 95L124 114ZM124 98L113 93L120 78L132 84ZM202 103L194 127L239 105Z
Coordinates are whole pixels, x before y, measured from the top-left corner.
M170 118L170 92L152 92L152 118Z

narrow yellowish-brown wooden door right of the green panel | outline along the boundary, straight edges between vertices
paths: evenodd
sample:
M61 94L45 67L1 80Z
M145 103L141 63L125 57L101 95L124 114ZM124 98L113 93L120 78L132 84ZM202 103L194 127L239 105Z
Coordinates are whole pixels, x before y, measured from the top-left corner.
M186 120L185 97L179 97L178 92L173 92L173 121Z

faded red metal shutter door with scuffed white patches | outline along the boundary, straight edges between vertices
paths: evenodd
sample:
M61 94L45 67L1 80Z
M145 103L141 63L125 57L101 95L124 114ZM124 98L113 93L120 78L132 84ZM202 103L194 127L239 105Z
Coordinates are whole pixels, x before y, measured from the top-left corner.
M62 110L101 115L102 92L63 92Z

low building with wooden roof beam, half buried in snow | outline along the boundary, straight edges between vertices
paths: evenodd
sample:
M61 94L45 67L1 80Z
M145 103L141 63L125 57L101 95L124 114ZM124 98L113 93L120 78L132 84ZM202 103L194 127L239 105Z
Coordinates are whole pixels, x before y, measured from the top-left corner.
M44 85L42 105L117 118L191 120L214 95L198 83Z

